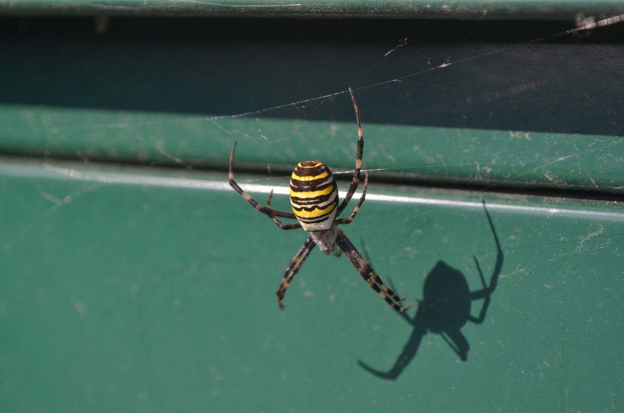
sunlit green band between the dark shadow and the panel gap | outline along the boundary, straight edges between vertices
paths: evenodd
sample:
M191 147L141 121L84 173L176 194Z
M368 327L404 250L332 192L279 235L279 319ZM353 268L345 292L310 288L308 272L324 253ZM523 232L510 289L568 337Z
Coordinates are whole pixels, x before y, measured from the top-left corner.
M198 119L49 109L37 111L38 123L49 124L49 117L63 124L31 127L26 125L32 115L29 109L6 109L4 114L11 119L4 129L5 150L28 153L45 148L47 157L79 155L225 169L232 143L238 139L236 165L270 165L285 175L298 160L310 158L336 170L349 170L356 147L355 122ZM268 142L264 134L275 141ZM283 136L286 140L279 138ZM386 179L597 192L624 187L622 137L375 124L364 125L364 137L364 168Z

